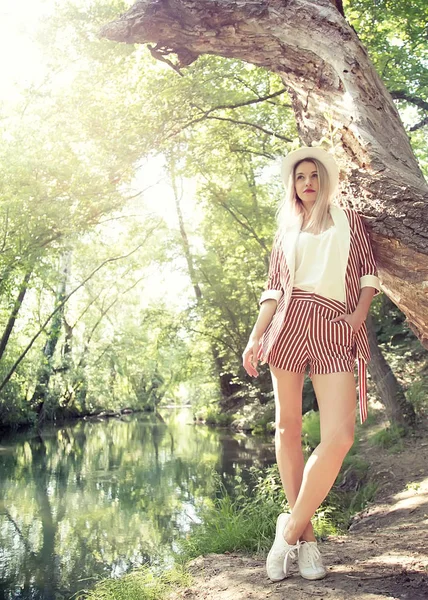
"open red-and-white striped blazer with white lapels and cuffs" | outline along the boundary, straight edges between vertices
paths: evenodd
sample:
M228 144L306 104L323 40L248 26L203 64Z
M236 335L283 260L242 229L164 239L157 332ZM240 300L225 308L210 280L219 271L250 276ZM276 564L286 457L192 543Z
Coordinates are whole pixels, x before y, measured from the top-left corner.
M380 293L377 267L370 238L360 215L351 208L341 208L335 204L330 205L330 214L339 240L340 264L345 286L345 311L350 314L357 307L361 288L374 287L376 289L375 296ZM274 240L268 281L260 298L260 304L264 300L274 299L277 301L277 307L259 343L258 358L262 364L269 362L269 352L284 323L293 289L296 242L301 224L300 218L290 227L282 242L279 241L278 236ZM365 322L356 333L355 342L359 377L360 421L363 423L367 418L366 365L370 361L370 347Z

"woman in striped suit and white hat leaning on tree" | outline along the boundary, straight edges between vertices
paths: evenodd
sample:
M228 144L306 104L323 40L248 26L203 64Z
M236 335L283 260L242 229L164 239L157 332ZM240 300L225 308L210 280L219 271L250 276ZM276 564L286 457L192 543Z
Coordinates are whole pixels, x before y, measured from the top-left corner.
M260 312L243 353L247 373L268 363L275 395L275 449L291 513L278 516L267 574L280 581L298 555L306 579L326 569L311 518L330 491L354 441L358 360L360 420L367 417L365 319L380 290L376 263L355 210L332 200L339 170L321 148L300 148L282 163L286 195ZM321 442L304 464L302 389L309 363Z

